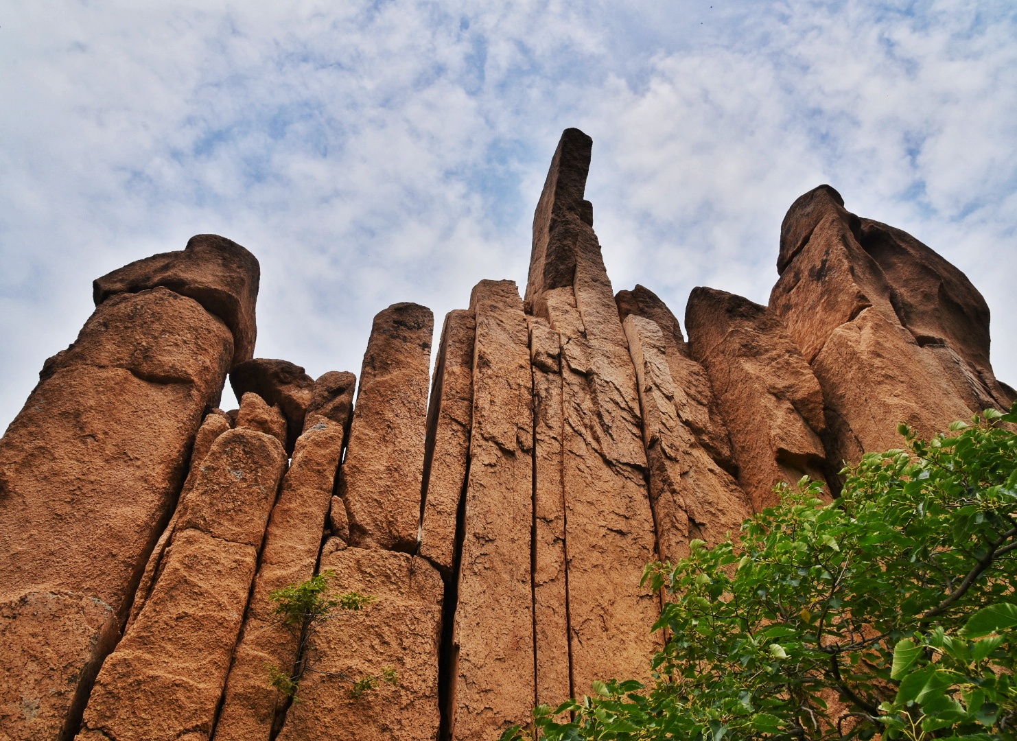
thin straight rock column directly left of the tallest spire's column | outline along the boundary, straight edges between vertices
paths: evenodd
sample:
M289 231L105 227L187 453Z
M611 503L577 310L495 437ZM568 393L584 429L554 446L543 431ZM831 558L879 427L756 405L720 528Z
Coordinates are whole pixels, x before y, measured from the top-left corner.
M538 704L572 697L565 502L561 481L561 337L528 317L533 372L533 639Z

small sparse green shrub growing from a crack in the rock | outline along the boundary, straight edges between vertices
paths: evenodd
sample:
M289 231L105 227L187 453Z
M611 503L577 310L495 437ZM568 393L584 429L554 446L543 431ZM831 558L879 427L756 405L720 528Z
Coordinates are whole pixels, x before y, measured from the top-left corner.
M300 583L268 593L268 599L275 603L273 614L297 638L297 662L293 673L268 665L265 667L268 670L268 685L294 701L299 701L297 690L301 677L305 672L314 671L316 657L312 655L310 641L317 628L333 616L335 610L363 610L376 599L359 592L330 596L328 581L335 577L336 572L328 569ZM392 679L388 678L390 672ZM354 696L357 697L373 688L379 679L371 676L355 680L345 674L337 674L354 685ZM385 669L381 678L396 683L395 671L391 669Z

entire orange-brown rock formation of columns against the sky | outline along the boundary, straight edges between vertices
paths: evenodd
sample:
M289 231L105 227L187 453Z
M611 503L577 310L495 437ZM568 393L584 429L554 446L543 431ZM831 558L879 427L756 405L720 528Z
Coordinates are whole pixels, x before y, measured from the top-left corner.
M416 304L375 317L356 399L253 359L257 261L222 237L96 281L0 440L0 739L497 739L649 678L648 562L777 483L836 496L901 421L1013 402L967 279L829 186L784 220L770 306L696 289L686 342L649 289L613 293L591 150L562 134L525 297L477 284L430 384ZM316 575L373 599L284 625L277 591Z

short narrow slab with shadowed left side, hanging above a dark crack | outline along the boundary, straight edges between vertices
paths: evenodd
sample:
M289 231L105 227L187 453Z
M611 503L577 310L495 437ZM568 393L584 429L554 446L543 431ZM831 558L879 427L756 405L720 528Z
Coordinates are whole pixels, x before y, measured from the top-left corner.
M441 330L427 410L420 555L446 573L456 550L456 513L466 487L473 415L472 311L450 311Z

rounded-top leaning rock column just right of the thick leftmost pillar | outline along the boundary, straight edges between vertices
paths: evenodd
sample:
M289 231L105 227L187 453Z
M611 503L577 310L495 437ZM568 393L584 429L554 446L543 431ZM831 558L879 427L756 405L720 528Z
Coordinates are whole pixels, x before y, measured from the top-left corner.
M230 430L213 443L152 596L103 664L78 738L208 738L285 468L283 446L260 432Z

